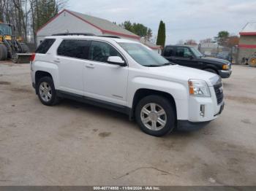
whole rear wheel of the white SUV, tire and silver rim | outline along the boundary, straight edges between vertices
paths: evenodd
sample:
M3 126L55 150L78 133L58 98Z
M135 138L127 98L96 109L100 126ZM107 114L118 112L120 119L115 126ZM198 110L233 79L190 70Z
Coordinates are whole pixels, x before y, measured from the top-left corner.
M42 77L37 83L37 95L42 104L53 106L59 103L56 90L51 77Z

